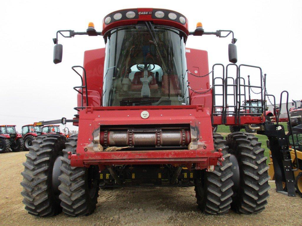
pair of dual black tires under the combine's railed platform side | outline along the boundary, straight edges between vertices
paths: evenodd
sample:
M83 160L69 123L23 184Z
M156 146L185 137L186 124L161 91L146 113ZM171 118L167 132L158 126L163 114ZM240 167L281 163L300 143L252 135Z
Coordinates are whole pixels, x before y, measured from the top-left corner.
M253 134L213 134L215 150L222 149L222 165L213 172L202 170L195 181L198 207L206 214L220 215L230 208L253 214L265 209L269 197L267 157Z

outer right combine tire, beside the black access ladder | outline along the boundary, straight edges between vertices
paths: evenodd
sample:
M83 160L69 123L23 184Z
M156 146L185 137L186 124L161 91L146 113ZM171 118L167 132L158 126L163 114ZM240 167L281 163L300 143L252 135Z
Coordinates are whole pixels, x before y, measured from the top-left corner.
M232 208L237 213L252 214L265 209L269 197L268 166L264 149L254 134L237 132L226 137L229 152L233 155L239 168L238 178L232 178L238 183L233 187Z

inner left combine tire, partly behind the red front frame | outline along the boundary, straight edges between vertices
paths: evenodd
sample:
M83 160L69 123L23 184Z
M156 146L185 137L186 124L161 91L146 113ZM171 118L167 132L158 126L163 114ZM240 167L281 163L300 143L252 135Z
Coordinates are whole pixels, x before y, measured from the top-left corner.
M76 154L78 135L71 136L63 150L61 184L61 206L63 212L70 216L90 215L98 202L99 174L98 166L71 167L68 152Z

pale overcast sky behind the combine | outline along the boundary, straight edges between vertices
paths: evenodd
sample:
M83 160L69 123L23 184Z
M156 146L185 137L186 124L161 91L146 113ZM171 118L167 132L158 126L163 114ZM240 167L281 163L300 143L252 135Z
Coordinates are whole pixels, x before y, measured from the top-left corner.
M72 87L80 80L71 67L82 65L85 50L105 45L101 36L59 37L63 62L55 65L56 31L85 31L90 21L101 31L106 14L142 7L180 12L188 18L190 31L199 21L205 31L233 30L238 64L262 67L267 90L277 100L282 90L289 91L290 100L302 99L302 1L3 1L0 124L16 124L20 132L22 125L34 121L72 118ZM207 50L211 67L228 63L230 39L190 36L186 47Z

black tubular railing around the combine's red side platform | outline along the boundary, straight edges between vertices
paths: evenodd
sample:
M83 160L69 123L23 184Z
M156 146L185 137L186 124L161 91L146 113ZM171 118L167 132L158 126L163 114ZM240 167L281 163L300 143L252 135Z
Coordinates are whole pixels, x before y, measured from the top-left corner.
M222 76L216 76L216 66L222 67ZM230 76L229 69L234 67L236 69L236 75ZM254 85L250 82L250 75L244 76L242 74L242 67L250 67L259 69L259 79L260 85ZM215 69L215 70L214 70ZM254 78L254 76L252 76ZM246 83L246 78L248 83ZM261 67L240 64L228 64L224 68L223 64L213 65L213 77L212 77L212 123L214 121L214 116L222 117L222 124L226 124L226 118L228 116L235 117L235 123L240 123L240 118L243 116L262 116L265 114L265 78L262 76ZM217 88L222 87L222 92L218 92ZM253 90L254 89L254 90ZM259 91L259 92L258 92ZM258 100L260 105L252 105L251 94L259 95ZM254 95L254 96L255 96ZM219 99L222 99L222 103L218 104ZM226 107L227 106L227 107ZM256 109L256 112L252 109Z

